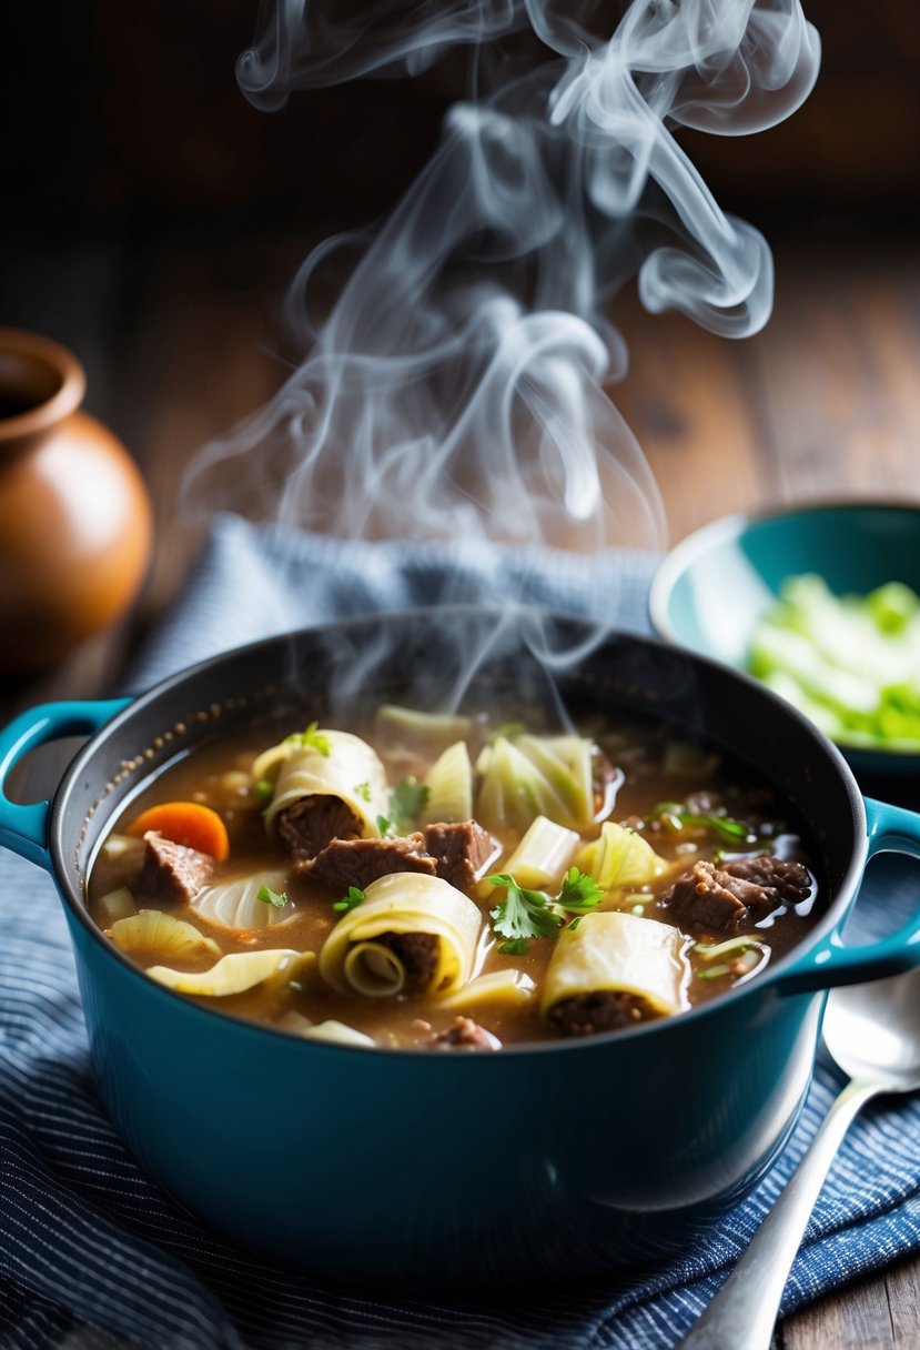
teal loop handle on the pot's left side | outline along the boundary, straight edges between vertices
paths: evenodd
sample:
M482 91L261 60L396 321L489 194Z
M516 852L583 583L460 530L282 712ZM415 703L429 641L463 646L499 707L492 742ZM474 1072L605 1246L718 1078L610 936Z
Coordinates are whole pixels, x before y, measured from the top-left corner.
M5 792L7 776L30 751L65 736L92 736L131 702L130 698L108 698L93 702L39 703L38 707L20 713L0 730L0 844L46 871L51 869L47 848L51 803L30 802L27 806L20 806L18 802L11 802Z

